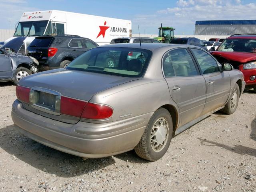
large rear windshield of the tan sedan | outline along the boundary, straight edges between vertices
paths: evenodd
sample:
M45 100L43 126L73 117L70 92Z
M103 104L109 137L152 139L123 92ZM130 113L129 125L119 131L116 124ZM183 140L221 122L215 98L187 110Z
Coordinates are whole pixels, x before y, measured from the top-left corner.
M144 49L99 47L73 60L67 69L124 77L142 77L151 55L151 51Z

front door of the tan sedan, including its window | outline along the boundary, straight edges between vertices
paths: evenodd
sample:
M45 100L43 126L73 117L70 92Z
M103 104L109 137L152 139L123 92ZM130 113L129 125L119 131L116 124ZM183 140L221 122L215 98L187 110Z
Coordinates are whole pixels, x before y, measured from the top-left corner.
M196 48L190 50L206 81L206 114L226 103L230 93L230 76L228 72L220 71L217 61L207 52Z

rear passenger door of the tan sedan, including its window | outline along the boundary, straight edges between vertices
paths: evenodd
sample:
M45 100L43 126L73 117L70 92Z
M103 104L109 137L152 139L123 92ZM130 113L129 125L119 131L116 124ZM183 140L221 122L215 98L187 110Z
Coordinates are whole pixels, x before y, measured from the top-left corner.
M186 48L170 50L162 60L170 96L180 109L182 126L199 116L206 101L206 84Z

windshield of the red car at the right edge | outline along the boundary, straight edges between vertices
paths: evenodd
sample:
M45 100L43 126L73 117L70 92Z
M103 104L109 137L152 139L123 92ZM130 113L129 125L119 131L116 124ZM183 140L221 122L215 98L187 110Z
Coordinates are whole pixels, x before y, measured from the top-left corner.
M256 39L226 39L218 51L256 53Z

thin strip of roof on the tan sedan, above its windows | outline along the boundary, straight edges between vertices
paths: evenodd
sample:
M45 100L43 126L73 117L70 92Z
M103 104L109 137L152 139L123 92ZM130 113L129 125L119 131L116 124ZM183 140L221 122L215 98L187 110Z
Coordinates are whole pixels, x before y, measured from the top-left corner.
M99 47L123 47L123 48L137 48L140 49L140 43L120 43L120 44L108 44L108 45L102 45ZM97 48L99 48L97 47ZM146 50L156 50L158 48L179 48L179 47L195 47L198 48L198 46L193 45L187 45L187 44L167 44L167 43L142 43L141 48Z

